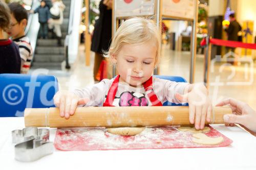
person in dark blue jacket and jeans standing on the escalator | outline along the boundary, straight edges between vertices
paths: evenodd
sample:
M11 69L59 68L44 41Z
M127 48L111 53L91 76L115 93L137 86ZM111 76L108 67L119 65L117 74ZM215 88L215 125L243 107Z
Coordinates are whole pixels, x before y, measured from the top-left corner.
M46 39L48 35L48 20L50 19L50 10L46 6L44 0L41 1L41 5L32 11L33 13L38 13L38 21L40 23L40 37Z

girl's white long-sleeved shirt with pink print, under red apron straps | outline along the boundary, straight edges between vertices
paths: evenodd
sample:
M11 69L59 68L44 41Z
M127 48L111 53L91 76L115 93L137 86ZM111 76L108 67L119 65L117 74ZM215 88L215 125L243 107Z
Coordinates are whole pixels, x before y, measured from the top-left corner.
M104 79L101 82L74 91L80 98L89 98L85 106L103 106L108 91L114 79ZM179 104L175 98L176 93L183 94L188 83L177 83L153 77L153 90L158 100L163 104L166 101ZM113 106L152 106L144 87L132 87L119 82L118 89L113 101Z

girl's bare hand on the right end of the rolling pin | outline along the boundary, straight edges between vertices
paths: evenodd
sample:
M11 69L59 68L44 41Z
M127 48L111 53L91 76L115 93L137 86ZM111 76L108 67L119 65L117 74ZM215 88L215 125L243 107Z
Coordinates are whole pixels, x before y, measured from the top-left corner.
M205 120L210 123L212 104L208 98L208 90L203 84L190 84L184 94L177 93L176 99L189 105L189 122L196 129L204 129Z

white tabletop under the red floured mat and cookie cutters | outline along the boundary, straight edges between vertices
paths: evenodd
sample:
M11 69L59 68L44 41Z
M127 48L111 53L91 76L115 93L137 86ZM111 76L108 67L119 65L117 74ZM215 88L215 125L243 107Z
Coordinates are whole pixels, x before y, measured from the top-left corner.
M212 125L233 140L229 147L117 151L58 151L34 162L14 159L11 131L24 117L0 118L0 169L256 169L256 137L239 127ZM50 129L54 141L56 129Z

